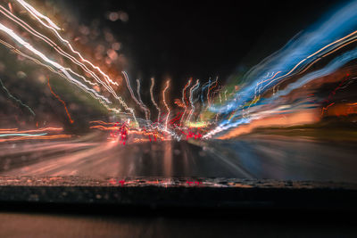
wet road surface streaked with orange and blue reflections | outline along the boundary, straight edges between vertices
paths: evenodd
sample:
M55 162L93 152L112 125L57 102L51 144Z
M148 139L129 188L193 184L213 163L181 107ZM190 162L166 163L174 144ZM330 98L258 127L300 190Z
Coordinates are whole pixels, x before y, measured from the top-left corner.
M2 144L1 176L203 176L357 182L357 148L282 136L228 142Z

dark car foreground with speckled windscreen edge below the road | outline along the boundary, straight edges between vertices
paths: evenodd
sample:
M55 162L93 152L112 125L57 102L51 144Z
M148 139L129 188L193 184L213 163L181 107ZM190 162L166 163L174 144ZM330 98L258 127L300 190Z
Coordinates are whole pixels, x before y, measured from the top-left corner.
M346 183L0 177L0 235L356 237L355 201Z

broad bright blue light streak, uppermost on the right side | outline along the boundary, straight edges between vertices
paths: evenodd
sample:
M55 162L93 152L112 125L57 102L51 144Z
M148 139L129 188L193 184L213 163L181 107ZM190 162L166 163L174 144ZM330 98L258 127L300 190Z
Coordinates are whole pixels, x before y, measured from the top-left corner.
M316 58L321 57L321 54L326 54L331 50L334 50L337 46L344 44L345 41L356 37L355 33L357 31L353 31L346 35L346 32L351 32L355 28L357 21L353 9L356 5L356 1L346 4L328 18L328 21L321 21L320 24L314 25L313 28L307 30L306 33L295 40L295 42L289 42L282 48L282 50L280 50L281 53L274 53L269 58L263 60L261 64L257 65L252 70L249 70L247 74L253 77L254 75L262 74L259 70L264 69L264 66L270 67L270 69L272 68L271 70L286 69L286 72L282 76L270 80L269 84L263 86L262 90L264 90L274 81L280 80L281 78L286 79L291 74L295 72L299 73L301 70L306 69L306 66L311 66L309 62L310 60L317 62L318 60L316 60ZM330 43L324 45L325 42ZM247 100L250 101L249 91L251 91L251 86L245 86L245 90L241 93L245 95L245 98L248 97ZM245 101L245 99L239 101ZM237 103L228 103L228 105L221 107L220 110L232 111L237 108ZM245 102L239 103L245 104ZM217 109L212 108L212 111L217 111Z

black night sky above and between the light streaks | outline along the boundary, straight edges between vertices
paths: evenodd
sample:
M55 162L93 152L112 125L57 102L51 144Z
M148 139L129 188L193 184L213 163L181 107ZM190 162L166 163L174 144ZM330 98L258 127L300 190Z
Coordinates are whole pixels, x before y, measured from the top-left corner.
M123 43L133 77L220 76L251 67L319 20L341 1L137 1L62 0L79 21L101 19ZM108 11L125 11L129 21L107 21Z

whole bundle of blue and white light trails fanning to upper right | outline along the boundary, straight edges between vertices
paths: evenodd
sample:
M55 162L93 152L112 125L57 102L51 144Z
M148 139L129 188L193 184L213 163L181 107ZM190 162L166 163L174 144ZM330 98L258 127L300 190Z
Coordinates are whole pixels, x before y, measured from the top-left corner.
M278 53L272 54L249 70L241 80L244 84L231 100L224 105L210 107L210 111L223 113L225 116L220 125L213 128L206 137L242 124L250 124L252 119L255 119L253 115L256 112L269 111L267 108L275 103L286 102L286 97L297 90L303 90L304 86L311 86L312 81L320 80L320 84L323 84L324 77L338 72L347 62L356 59L356 50L351 50L352 46L346 47L357 42L357 18L356 12L353 11L355 7L357 1L345 4L338 11L329 14L327 19L290 41ZM349 52L343 53L345 49ZM324 62L321 62L322 59ZM317 65L317 62L321 63ZM312 65L317 65L320 69L303 75L312 69ZM274 75L270 72L276 73ZM264 77L265 75L267 76ZM316 107L312 104L315 101L309 101L311 107ZM295 107L295 110L297 109ZM325 111L323 107L321 114Z

